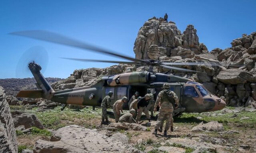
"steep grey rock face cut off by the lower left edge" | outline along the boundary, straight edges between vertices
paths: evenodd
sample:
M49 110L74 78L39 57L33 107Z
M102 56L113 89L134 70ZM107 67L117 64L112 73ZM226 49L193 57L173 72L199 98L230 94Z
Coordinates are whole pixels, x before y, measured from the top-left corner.
M0 153L18 153L18 143L9 104L0 86Z

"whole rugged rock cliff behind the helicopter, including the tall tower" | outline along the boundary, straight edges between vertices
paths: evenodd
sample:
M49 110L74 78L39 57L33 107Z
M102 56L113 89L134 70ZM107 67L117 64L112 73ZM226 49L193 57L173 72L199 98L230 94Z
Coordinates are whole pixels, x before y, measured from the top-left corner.
M234 39L231 45L224 50L216 48L209 52L206 45L199 43L194 26L188 25L182 34L174 22L166 23L162 18L154 17L140 28L134 43L134 53L137 59L204 63L179 66L198 73L157 67L153 70L190 78L204 84L213 94L225 99L228 105L244 106L256 100L256 32L243 34L241 38ZM105 69L75 70L69 78L52 86L58 90L76 88L94 84L104 75L147 70L148 67L125 64Z

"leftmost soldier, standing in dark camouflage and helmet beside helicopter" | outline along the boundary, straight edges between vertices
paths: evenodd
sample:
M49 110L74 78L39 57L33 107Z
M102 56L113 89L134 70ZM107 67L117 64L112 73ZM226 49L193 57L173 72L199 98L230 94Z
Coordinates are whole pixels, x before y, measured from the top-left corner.
M102 108L102 120L101 120L101 124L105 123L105 119L106 119L106 123L108 123L108 116L107 116L107 108L110 108L110 98L112 97L113 92L109 91L108 95L102 100L101 103L101 108Z

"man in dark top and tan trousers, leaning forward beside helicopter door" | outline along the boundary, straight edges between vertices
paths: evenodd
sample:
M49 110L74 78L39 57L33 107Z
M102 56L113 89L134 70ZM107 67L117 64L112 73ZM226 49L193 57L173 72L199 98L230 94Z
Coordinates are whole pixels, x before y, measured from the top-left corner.
M150 122L150 116L149 116L148 109L147 109L149 99L150 99L150 95L146 94L145 97L142 97L138 101L138 104L137 104L138 116L136 117L136 121L140 121L141 114L142 114L142 112L144 112L144 114L146 115L146 117L148 119L148 122Z

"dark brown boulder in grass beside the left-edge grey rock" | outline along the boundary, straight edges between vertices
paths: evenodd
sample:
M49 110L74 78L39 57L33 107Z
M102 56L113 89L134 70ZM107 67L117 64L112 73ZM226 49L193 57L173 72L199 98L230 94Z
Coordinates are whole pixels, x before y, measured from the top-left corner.
M26 129L32 126L42 129L42 123L38 120L35 114L30 113L15 113L12 115L14 127L25 126Z

